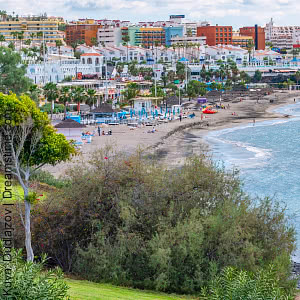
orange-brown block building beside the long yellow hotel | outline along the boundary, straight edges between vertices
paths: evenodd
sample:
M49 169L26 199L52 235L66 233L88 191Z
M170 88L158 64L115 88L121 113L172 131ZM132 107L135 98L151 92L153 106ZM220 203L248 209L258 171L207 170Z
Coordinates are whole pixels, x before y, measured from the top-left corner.
M92 46L92 38L97 39L99 25L95 24L68 24L66 26L66 42L71 45L75 41L83 41Z

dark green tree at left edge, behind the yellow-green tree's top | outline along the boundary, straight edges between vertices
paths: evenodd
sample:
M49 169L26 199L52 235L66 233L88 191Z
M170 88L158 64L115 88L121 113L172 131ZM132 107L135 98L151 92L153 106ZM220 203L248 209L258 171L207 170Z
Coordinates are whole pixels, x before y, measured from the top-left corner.
M17 95L28 91L31 80L25 74L26 66L22 64L20 54L10 48L0 47L0 91L12 91Z

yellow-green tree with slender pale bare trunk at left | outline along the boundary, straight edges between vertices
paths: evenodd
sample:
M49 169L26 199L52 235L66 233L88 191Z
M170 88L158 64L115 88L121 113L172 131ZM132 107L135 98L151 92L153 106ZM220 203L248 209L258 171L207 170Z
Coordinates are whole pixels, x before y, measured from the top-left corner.
M0 94L0 161L7 176L10 175L6 178L12 180L11 174L14 175L24 192L24 213L21 208L19 213L25 229L27 261L34 259L30 223L31 207L37 197L30 192L30 177L43 165L66 161L75 153L74 147L64 135L55 132L47 115L28 96Z

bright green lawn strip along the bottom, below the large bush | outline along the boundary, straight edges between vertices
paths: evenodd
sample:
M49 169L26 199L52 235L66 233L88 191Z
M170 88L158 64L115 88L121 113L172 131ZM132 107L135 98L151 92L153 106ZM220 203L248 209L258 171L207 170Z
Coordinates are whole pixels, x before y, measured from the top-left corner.
M182 300L196 299L178 295L167 295L152 291L94 283L86 280L66 279L71 300Z

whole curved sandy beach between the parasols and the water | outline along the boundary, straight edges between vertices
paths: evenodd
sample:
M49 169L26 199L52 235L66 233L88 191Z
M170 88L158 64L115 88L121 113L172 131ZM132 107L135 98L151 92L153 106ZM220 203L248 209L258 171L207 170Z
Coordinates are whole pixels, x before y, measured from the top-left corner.
M55 167L46 166L44 169L59 177L78 161L88 160L90 154L105 145L112 144L122 152L132 153L138 147L146 153L153 153L162 163L176 166L182 163L189 155L200 153L208 149L201 137L211 130L239 126L243 123L260 122L268 119L283 118L281 114L273 113L278 106L294 103L294 99L300 97L300 91L276 92L256 100L246 98L232 99L227 102L226 109L219 109L217 114L204 115L201 120L201 112L195 111L193 119L185 118L180 122L174 120L155 127L155 133L149 133L152 127L141 127L131 130L126 125L111 126L112 135L96 135L91 144L82 147L81 155L73 158L70 162L61 163ZM273 103L270 100L274 100ZM229 103L230 108L227 108ZM87 131L93 131L96 127L91 126ZM105 129L107 131L107 129ZM197 134L196 134L197 132Z

